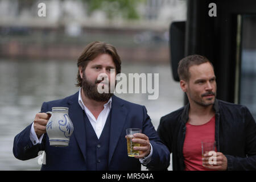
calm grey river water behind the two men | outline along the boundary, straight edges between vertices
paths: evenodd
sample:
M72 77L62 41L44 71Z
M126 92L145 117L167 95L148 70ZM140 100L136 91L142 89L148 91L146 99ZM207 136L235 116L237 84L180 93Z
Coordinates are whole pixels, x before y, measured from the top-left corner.
M160 117L183 105L183 92L174 82L169 64L122 63L123 73L159 73L159 97L148 94L117 94L146 106L157 129ZM0 60L0 170L39 170L38 158L26 161L13 155L16 134L34 121L44 101L77 92L75 61Z

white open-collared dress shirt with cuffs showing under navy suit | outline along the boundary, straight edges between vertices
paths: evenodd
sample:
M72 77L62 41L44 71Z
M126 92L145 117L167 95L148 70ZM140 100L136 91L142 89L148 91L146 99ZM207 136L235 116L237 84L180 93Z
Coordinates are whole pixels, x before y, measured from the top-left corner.
M81 88L79 90L79 105L82 107L82 110L85 111L85 114L87 115L90 124L92 125L98 139L101 136L101 133L104 129L105 123L106 123L106 119L108 118L110 109L111 109L111 105L112 105L112 97L109 99L109 101L104 104L104 109L101 111L100 115L98 115L98 118L96 119L94 117L94 115L92 114L92 112L84 105L84 102L82 102L82 97L81 97ZM44 134L43 134L44 135ZM31 129L30 129L30 140L31 142L36 145L42 142L43 139L43 135L38 139L38 137L36 136L35 130L34 130L34 123L32 123ZM151 146L151 143L150 143ZM150 162L151 160L151 156L153 153L153 148L151 146L151 151L150 154L144 158L144 159L139 159L139 161L146 165Z

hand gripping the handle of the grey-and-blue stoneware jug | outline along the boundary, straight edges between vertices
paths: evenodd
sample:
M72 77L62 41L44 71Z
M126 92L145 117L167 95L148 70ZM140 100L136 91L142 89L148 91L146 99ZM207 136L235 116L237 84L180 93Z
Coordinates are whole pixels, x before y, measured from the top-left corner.
M51 114L46 114L46 113L36 114L34 119L34 130L38 138L40 138L41 135L46 133L46 125L50 117L51 117Z

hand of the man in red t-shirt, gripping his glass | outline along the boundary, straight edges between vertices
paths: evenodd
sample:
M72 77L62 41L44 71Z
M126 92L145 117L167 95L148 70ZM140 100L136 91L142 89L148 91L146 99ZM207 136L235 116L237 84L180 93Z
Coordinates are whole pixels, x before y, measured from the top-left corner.
M214 158L216 159L216 164L209 164L210 158L213 157L209 154L204 154L203 160L203 166L208 169L218 170L218 171L225 171L228 168L228 159L226 159L226 156L222 154L221 152L216 152L216 156Z

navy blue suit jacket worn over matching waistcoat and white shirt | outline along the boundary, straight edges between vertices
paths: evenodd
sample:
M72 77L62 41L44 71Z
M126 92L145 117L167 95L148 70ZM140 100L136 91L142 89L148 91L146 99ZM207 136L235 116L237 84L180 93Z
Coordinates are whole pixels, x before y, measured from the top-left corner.
M52 107L69 108L69 118L74 126L68 147L49 146L49 138L44 134L41 144L32 144L30 140L31 125L26 127L14 138L13 153L20 160L38 156L39 151L46 152L46 164L42 170L86 170L86 137L83 110L78 103L79 92L62 100L44 102L41 112L51 111ZM112 96L109 170L141 170L139 159L127 156L126 129L140 128L150 139L153 148L148 169L166 169L170 164L170 152L161 142L147 115L146 107L133 104Z

